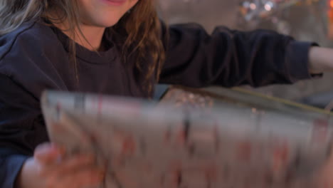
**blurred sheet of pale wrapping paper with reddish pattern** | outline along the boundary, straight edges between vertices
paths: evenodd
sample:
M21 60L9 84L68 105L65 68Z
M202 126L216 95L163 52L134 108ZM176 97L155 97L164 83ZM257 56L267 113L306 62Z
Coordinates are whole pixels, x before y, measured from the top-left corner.
M231 101L180 89L159 104L50 91L42 108L52 142L107 167L105 188L315 187L331 117Z

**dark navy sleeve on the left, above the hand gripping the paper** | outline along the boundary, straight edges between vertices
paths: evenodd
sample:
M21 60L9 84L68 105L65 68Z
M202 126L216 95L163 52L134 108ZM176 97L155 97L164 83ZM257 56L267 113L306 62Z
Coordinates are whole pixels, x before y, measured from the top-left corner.
M0 40L0 187L14 188L23 162L48 142L40 97L66 90L54 62L67 58L50 31L34 26ZM12 41L12 42L11 42ZM61 50L61 51L60 51Z

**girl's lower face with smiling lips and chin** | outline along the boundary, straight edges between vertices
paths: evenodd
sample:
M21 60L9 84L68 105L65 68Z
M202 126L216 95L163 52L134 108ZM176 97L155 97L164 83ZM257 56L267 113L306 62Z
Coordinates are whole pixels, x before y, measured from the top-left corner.
M114 26L139 0L78 0L82 23L107 28Z

